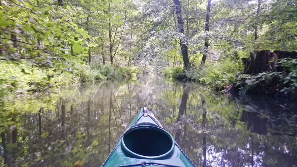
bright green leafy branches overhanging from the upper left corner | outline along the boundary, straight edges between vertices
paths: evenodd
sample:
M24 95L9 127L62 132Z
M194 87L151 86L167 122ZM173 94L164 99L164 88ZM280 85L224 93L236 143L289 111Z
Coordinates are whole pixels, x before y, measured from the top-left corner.
M71 8L36 0L19 3L1 3L2 60L26 59L40 67L73 71L75 66L69 60L79 62L90 47L97 46L93 43L96 38L75 24L77 14Z

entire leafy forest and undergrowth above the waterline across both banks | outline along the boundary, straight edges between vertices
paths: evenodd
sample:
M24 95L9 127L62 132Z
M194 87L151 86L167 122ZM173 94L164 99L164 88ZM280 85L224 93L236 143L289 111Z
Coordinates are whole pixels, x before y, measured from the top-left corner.
M157 71L220 91L296 93L293 0L7 0L0 6L1 92Z

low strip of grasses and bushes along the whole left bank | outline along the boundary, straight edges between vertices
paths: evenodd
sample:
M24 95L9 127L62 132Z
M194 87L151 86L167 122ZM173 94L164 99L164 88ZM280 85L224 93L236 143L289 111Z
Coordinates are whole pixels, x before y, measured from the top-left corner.
M0 92L25 93L49 91L61 86L107 79L132 78L141 72L138 67L123 67L92 62L75 65L77 72L57 71L33 66L22 60L16 63L0 62Z

